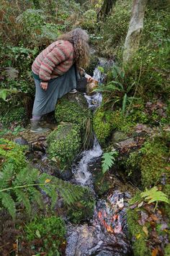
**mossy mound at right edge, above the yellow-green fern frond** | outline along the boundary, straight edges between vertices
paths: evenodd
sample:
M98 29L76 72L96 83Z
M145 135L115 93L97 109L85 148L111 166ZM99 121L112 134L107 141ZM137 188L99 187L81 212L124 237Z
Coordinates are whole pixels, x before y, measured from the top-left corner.
M143 153L140 163L143 186L149 187L160 183L163 174L169 175L166 168L168 157L166 142L155 138L152 141L145 142L140 151Z

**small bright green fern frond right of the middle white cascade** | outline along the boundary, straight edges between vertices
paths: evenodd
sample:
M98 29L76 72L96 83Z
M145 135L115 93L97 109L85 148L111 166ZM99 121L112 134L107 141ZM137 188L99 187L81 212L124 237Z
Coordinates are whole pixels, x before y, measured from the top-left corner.
M105 174L105 172L109 171L109 168L111 168L115 163L115 158L117 157L118 153L114 149L111 152L104 153L102 155L102 173Z

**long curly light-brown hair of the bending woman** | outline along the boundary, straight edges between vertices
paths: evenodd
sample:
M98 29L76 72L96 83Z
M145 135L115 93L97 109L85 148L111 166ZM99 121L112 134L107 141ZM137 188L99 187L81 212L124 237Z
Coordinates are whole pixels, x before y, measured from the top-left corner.
M89 64L89 35L86 33L85 30L81 28L76 28L71 30L70 32L60 35L58 40L68 40L70 43L73 44L73 48L75 51L75 60L76 66L86 68Z

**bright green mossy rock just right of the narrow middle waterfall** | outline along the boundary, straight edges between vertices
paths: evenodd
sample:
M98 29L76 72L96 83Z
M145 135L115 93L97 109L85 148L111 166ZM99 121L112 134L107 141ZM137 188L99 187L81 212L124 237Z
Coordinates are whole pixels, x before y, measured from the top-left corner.
M94 114L93 128L99 143L102 145L112 132L112 111L99 108Z

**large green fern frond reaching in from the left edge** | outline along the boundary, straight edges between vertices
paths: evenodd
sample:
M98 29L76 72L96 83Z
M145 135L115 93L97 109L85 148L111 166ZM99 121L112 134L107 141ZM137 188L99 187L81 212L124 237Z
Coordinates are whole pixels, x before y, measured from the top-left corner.
M17 202L24 206L28 214L32 211L32 202L37 202L37 205L42 208L42 192L50 197L53 208L58 193L70 205L83 195L84 188L48 174L40 174L37 169L29 168L29 166L18 171L17 174L12 163L6 163L1 169L0 207L6 208L12 218L16 216Z

